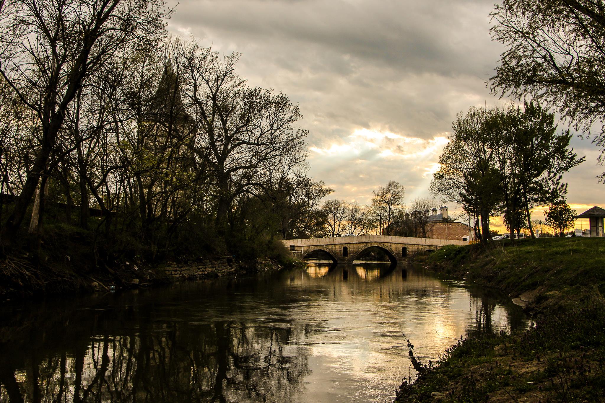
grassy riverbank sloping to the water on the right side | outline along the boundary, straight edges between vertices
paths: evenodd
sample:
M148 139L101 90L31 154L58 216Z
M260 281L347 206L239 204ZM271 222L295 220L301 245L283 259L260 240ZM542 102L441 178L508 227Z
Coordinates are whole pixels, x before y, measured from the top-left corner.
M605 239L445 247L427 267L506 292L531 314L525 332L470 335L436 365L417 362L397 402L605 401ZM410 340L410 352L414 354Z

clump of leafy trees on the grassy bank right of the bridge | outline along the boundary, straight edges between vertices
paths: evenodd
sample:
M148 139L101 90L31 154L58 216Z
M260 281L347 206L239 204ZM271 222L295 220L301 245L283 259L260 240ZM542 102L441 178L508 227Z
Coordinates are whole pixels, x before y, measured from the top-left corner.
M526 103L523 110L470 108L453 129L431 190L480 217L482 242L490 237L489 216L497 211L505 212L512 233L527 224L533 236L530 208L564 195L563 173L583 161L569 149L569 131L557 134L554 115L538 103Z

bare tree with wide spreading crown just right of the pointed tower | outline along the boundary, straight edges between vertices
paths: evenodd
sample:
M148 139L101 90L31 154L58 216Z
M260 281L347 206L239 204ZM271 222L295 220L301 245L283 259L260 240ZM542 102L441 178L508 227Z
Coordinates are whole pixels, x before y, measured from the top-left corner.
M296 125L302 115L285 94L246 86L235 73L239 54L220 57L179 41L174 54L186 72L192 152L215 176L215 225L221 229L234 199L261 185L275 161L284 156L304 161L307 131Z

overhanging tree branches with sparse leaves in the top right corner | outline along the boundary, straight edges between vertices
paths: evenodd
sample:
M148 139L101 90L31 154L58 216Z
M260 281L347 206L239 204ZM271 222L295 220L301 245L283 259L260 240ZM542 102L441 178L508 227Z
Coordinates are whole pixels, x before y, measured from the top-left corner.
M491 18L492 37L508 48L489 80L493 92L552 105L586 133L605 121L602 0L505 0ZM602 164L605 125L593 143L601 147Z

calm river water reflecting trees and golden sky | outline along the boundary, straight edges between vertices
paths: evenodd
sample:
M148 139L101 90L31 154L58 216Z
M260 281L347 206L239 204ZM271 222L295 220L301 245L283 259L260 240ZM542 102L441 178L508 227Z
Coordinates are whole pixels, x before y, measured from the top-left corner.
M384 263L0 305L0 402L384 402L460 335L526 326L485 289Z

